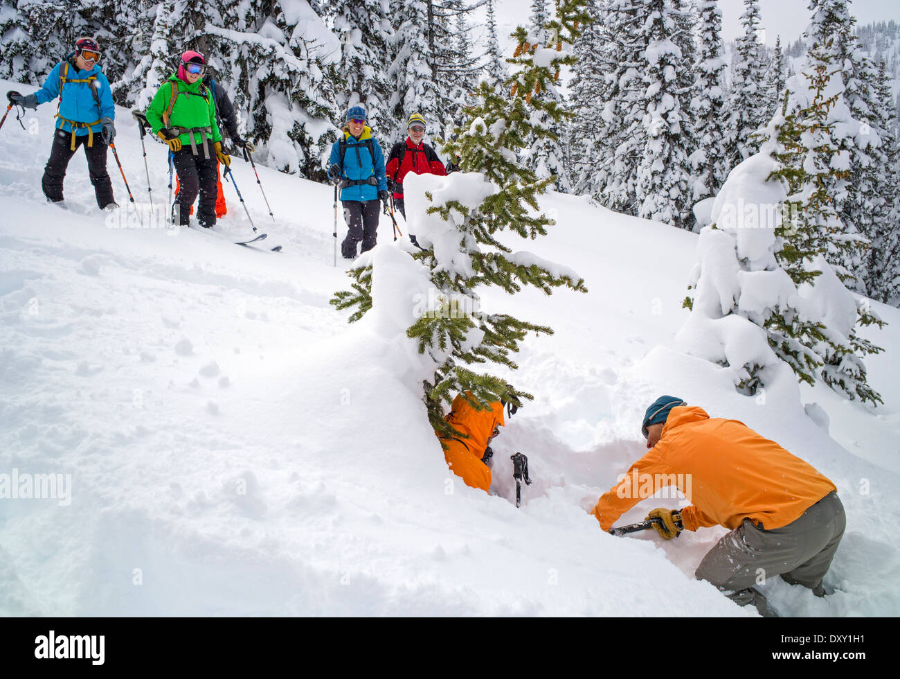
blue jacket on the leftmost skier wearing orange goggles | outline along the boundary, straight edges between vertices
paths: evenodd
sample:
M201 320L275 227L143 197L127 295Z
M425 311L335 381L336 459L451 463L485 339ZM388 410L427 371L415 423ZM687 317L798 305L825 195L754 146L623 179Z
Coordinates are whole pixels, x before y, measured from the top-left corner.
M73 56L74 53L69 55L67 60L71 59ZM34 93L38 104L46 104L51 99L55 99L59 96L59 76L62 72L64 63L65 62L59 63L53 67L53 70L50 71L49 76L44 81L44 86ZM72 79L83 80L91 76L96 76L97 79L89 83L71 82ZM103 72L100 70L100 64L94 64L94 68L91 68L90 70L79 71L75 64L69 61L66 79L68 82L62 88L62 101L59 103L60 120L57 121L58 128L67 132L72 131L72 126L61 120L62 118L75 122L94 122L99 121L103 117L109 117L112 120L115 119L115 105L112 104L112 90L110 89L109 80L106 79L106 76L104 76ZM97 106L97 102L94 101L94 95L91 94L91 86L94 84L96 85L97 98L100 100L99 106ZM91 131L94 131L94 133L97 133L103 130L103 125L97 122L97 124L93 125L90 129ZM75 133L76 136L85 135L87 134L87 128L76 128Z

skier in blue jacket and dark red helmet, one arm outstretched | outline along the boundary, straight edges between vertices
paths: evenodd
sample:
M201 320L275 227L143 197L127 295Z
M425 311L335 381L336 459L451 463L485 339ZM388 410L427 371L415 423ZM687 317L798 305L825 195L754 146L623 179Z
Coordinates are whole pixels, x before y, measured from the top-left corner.
M56 133L41 186L51 203L62 201L62 184L68 161L79 146L85 147L87 171L97 204L118 207L112 197L112 181L106 171L106 149L115 137L115 106L109 81L100 70L100 47L92 38L80 38L75 50L58 63L33 95L9 92L13 104L36 109L59 97Z

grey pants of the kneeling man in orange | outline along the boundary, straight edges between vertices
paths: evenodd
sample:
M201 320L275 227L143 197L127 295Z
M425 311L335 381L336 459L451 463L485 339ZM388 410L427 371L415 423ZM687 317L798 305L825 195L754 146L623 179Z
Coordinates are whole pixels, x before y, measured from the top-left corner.
M709 550L696 575L739 605L752 603L761 615L768 615L766 599L753 585L780 575L790 584L803 584L816 596L823 596L822 578L845 526L843 505L834 492L783 528L765 530L744 519Z

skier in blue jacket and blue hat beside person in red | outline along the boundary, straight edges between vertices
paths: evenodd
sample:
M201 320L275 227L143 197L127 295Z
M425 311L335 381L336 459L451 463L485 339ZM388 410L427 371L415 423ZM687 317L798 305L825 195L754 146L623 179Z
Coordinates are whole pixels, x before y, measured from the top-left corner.
M390 197L382 147L372 137L372 128L365 121L365 108L353 106L347 111L343 139L331 147L329 177L341 188L347 238L340 249L347 259L356 257L356 244L360 240L362 252L375 247L378 201L387 205Z

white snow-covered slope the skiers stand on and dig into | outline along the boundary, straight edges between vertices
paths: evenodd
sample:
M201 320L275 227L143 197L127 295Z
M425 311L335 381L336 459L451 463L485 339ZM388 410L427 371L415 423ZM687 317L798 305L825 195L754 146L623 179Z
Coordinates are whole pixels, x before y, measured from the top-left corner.
M67 209L45 203L53 113L29 111L29 131L11 113L0 131L0 474L71 475L71 487L66 499L0 499L0 614L753 615L693 577L724 529L613 538L588 513L644 454L640 419L660 394L746 422L838 486L848 529L826 579L837 591L772 582L776 611L900 612L896 309L874 303L891 324L868 333L887 349L868 361L877 411L821 385L742 396L724 368L674 349L697 236L547 195L558 225L523 247L579 271L590 293L484 295L556 330L518 357L516 384L536 401L492 444L486 495L448 472L410 383L409 341L329 305L349 284L332 267L329 186L259 167L272 222L235 160L269 234L260 245L280 253L225 238L251 231L231 186L219 236L111 228L81 151ZM137 128L126 110L117 121L143 204ZM158 205L166 149L147 150ZM384 218L378 247L402 242ZM520 509L518 450L534 480ZM622 521L677 502L642 502Z

